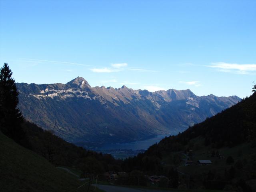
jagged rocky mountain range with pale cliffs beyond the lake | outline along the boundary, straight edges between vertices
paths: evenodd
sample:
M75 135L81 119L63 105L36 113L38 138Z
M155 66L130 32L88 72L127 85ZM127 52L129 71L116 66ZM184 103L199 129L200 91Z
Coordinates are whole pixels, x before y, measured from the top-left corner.
M17 83L24 117L70 142L123 142L175 134L236 104L237 96L196 96L190 90Z

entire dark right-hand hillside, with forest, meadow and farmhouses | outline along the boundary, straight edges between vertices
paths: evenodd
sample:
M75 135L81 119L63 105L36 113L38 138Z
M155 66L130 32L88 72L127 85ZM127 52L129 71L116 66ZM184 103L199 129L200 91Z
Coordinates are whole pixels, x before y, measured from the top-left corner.
M255 191L256 94L177 136L164 138L144 154L125 160L123 169L170 180L177 170L179 188Z

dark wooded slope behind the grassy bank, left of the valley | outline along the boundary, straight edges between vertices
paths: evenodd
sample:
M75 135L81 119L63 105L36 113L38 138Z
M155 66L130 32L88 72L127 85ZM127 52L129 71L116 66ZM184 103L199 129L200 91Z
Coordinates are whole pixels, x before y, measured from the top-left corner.
M119 170L119 161L110 154L85 150L27 121L22 127L28 138L28 148L55 166L73 167L82 173L94 174Z

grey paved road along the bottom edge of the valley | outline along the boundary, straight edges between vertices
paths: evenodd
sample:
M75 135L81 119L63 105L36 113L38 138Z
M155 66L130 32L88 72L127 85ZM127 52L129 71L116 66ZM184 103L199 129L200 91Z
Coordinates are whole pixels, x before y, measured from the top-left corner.
M96 185L97 188L105 192L177 192L176 190L154 190L154 189L133 189L128 187L112 186L112 185Z

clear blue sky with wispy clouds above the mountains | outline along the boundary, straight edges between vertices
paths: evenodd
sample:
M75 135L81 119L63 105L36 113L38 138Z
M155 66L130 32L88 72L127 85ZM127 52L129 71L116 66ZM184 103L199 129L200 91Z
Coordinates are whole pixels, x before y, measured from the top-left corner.
M255 0L0 0L0 63L16 82L252 92Z

